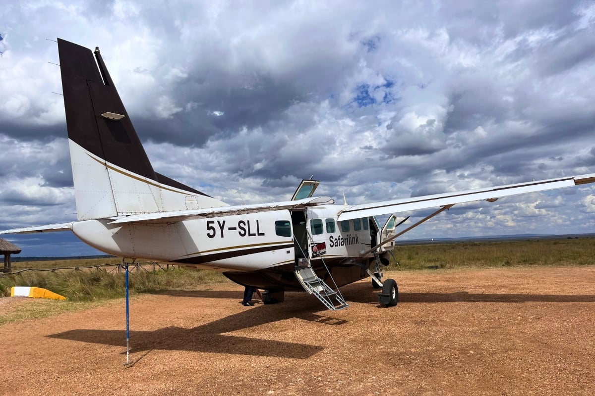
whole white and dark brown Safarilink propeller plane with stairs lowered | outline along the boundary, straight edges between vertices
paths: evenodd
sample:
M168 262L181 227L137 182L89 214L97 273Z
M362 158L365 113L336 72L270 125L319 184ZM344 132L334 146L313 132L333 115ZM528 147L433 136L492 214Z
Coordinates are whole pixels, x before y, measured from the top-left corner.
M453 205L595 182L595 173L361 205L315 197L303 180L292 199L230 206L153 169L99 48L58 39L77 221L0 232L70 230L124 260L221 271L264 290L265 303L306 291L328 309L348 306L339 288L371 277L378 302L394 306L399 289L382 280L393 240ZM93 56L93 54L95 56ZM396 232L396 214L435 208ZM389 215L384 226L375 216Z

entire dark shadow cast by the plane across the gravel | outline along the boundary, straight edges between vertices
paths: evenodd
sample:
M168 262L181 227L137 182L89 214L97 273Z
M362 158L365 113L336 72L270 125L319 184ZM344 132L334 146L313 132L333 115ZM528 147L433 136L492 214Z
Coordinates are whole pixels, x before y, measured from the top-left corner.
M369 284L351 284L342 288L343 296L349 302L378 305L377 291ZM239 292L218 292L217 290L174 291L161 294L180 297L220 297L240 299ZM227 297L222 297L221 294ZM294 293L291 293L294 294ZM210 353L242 354L249 356L287 357L308 359L324 347L305 343L279 340L262 340L226 334L229 332L256 327L267 323L298 318L324 325L343 325L344 319L315 313L322 311L321 303L305 293L295 293L296 297L286 299L277 305L258 304L254 308L235 313L225 318L200 325L195 328L166 327L154 331L131 331L131 352L150 350L183 350ZM495 293L399 293L399 303L442 303L442 302L595 302L595 295L564 294L495 294ZM328 311L327 311L328 312ZM199 314L199 313L198 313ZM329 314L331 314L329 312ZM126 347L123 330L74 329L47 337L62 340L82 341Z

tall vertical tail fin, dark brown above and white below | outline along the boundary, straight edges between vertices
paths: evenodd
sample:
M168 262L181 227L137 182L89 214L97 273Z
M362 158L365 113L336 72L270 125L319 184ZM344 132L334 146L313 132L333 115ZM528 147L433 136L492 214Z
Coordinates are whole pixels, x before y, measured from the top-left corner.
M153 170L99 49L58 52L79 220L227 206Z

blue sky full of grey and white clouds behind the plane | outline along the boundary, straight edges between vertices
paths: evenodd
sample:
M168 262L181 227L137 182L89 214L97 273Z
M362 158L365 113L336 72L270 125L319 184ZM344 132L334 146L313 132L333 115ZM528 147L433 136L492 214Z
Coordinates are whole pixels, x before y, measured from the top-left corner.
M57 37L99 46L157 172L230 204L311 175L360 204L595 172L593 1L8 0L0 34L0 229L76 219ZM585 232L592 186L407 237Z

